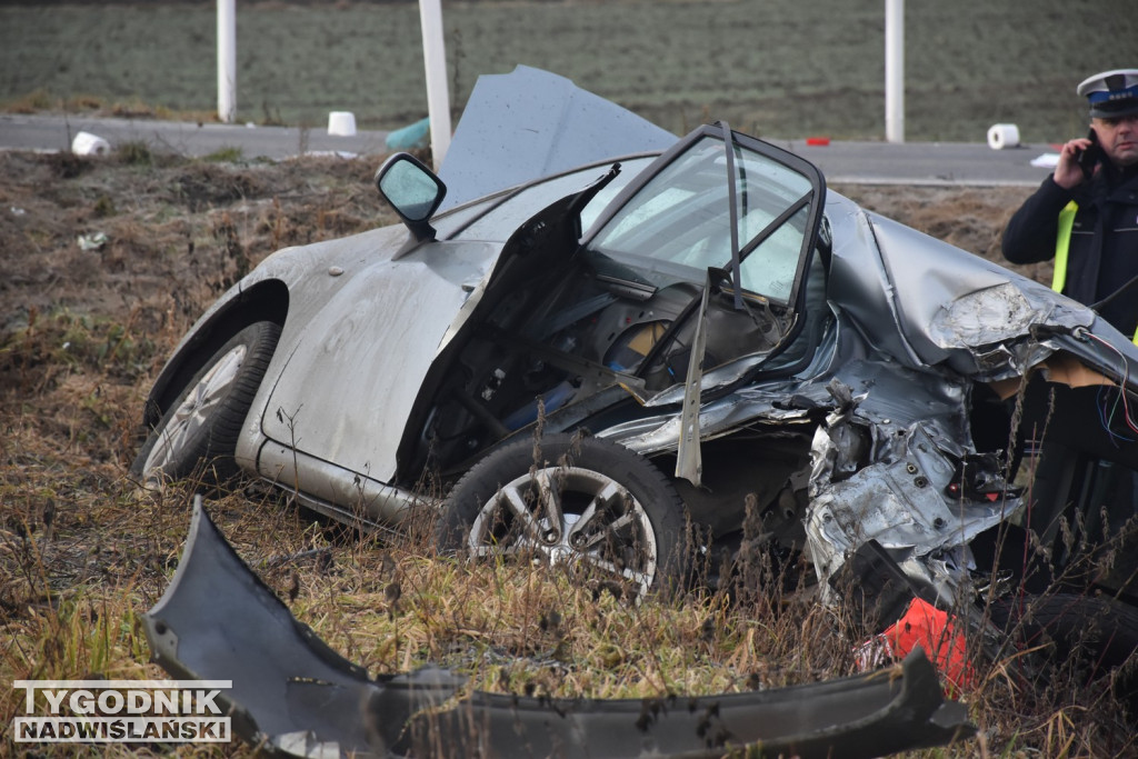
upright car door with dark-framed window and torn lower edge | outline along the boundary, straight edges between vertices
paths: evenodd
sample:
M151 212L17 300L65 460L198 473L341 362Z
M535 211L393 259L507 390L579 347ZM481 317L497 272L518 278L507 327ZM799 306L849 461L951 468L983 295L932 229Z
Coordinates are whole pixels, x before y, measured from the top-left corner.
M726 125L703 126L609 206L586 255L634 274L629 287L710 282L725 297L708 308L748 314L757 330L715 340L700 356L714 369L793 336L824 204L825 181L810 163ZM671 329L692 328L681 321Z

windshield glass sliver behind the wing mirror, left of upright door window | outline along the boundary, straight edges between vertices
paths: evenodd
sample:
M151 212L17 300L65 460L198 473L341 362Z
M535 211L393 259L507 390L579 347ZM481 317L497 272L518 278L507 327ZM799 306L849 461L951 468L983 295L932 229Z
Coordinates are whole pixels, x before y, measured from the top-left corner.
M617 178L597 192L582 212L582 229L588 229L616 193L653 159L654 157L649 156L620 162L620 173ZM455 234L455 238L505 241L537 212L561 198L579 192L601 179L608 170L609 166L603 164L591 166L525 187Z

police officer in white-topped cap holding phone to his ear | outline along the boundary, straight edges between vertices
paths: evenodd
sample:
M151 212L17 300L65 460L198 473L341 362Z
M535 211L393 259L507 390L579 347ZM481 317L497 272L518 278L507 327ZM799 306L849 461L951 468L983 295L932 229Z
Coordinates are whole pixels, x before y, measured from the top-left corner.
M1138 282L1125 286L1138 278L1138 68L1096 74L1078 93L1090 105L1090 133L1063 146L1055 173L1012 216L1004 256L1054 256L1054 289L1100 304L1103 319L1135 337Z

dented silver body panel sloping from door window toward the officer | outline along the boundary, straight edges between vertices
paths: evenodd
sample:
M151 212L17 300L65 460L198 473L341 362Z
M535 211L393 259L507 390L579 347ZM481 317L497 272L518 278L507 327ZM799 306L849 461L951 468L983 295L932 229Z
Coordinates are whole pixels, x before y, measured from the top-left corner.
M913 368L942 368L976 381L1021 377L1056 349L1119 371L1119 355L1086 349L1092 333L1125 361L1138 349L1096 313L1050 288L865 212L830 192L833 228L828 300L860 340ZM1081 347L1080 347L1081 346Z

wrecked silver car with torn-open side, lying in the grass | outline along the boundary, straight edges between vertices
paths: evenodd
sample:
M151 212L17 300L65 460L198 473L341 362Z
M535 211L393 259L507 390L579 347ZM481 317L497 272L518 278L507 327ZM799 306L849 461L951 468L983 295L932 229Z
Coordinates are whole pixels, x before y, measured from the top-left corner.
M1054 537L1074 493L1024 521L1011 399L1038 373L1125 401L1138 348L726 124L644 135L442 213L444 180L393 156L404 225L281 250L226 292L155 383L134 471L208 462L371 526L457 482L440 545L635 595L684 581L691 535L731 554L748 510L824 595L843 572L942 608L1008 593L978 546Z

